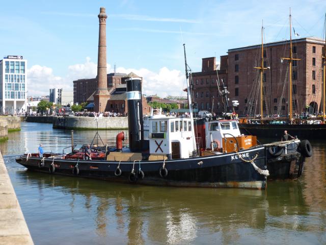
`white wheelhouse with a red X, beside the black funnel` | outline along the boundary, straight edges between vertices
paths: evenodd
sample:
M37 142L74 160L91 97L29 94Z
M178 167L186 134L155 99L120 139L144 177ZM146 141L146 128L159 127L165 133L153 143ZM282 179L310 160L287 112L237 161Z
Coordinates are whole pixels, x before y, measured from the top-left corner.
M150 154L167 154L172 159L189 158L194 149L190 118L163 116L149 118Z

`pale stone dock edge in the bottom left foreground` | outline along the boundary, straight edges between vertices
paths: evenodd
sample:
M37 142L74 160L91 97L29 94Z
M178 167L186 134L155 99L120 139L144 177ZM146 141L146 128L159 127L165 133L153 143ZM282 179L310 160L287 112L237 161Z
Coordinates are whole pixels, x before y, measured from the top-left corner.
M0 245L34 244L0 152Z

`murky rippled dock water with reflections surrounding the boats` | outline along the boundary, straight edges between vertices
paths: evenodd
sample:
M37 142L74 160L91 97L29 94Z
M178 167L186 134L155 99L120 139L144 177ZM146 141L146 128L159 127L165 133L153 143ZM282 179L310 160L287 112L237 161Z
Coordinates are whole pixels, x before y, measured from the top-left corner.
M325 146L320 142L313 142L314 156L307 159L303 178L269 182L266 192L166 188L26 171L13 154L33 151L40 141L46 150L59 151L69 145L70 134L50 125L29 127L23 125L0 148L8 155L6 165L35 244L326 243ZM91 140L94 132L75 135Z

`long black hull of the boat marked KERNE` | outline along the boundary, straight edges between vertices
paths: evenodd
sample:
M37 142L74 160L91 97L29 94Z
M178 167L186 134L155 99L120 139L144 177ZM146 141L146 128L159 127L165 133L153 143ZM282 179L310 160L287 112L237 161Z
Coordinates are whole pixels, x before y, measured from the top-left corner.
M260 169L266 169L266 151L264 147L240 151L239 154L254 161ZM29 170L48 174L83 177L113 182L138 183L158 186L180 187L235 187L265 189L266 177L259 174L250 162L244 162L236 153L221 154L189 159L171 159L164 161L111 162L96 160L74 160L44 158L22 155L16 161ZM120 165L119 165L120 164ZM75 166L78 167L78 174ZM121 169L121 175L115 172ZM54 167L54 171L53 170ZM167 169L167 176L161 177L160 168ZM134 173L141 169L144 179L130 180Z

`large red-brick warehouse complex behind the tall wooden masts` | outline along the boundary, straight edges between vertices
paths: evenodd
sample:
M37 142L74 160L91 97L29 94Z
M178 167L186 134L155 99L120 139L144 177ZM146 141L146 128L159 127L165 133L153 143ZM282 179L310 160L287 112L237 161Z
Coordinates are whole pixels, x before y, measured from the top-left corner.
M322 70L321 54L323 40L316 37L292 40L293 58L301 59L293 62L292 72L292 102L294 113L305 111L306 105L310 112L320 112L322 101ZM288 61L289 41L278 41L264 44L264 67L269 67L263 75L264 114L287 114L288 111ZM225 78L230 91L229 99L237 100L235 108L239 115L259 113L259 70L261 46L253 45L228 50L228 55L221 56L219 78ZM215 67L209 66L214 58L204 58L202 72L193 73L195 103L199 110L211 109L212 98L217 91L213 78ZM196 80L196 76L198 81ZM198 85L196 85L196 82ZM198 97L198 98L196 98ZM218 97L218 103L221 105ZM216 103L216 102L215 102ZM218 105L213 111L220 113Z

